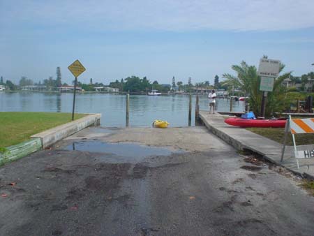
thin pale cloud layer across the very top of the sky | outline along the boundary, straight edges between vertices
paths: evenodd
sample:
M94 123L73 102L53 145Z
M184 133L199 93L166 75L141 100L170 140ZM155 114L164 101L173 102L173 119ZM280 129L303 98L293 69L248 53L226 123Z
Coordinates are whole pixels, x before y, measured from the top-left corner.
M2 1L1 24L106 30L275 31L314 27L313 0Z

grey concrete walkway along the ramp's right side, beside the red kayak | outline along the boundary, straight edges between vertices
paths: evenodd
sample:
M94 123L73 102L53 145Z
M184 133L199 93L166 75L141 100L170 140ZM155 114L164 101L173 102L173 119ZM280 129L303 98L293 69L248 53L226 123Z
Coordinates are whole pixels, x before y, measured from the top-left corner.
M262 155L267 161L283 166L287 170L294 172L294 174L314 179L313 171L309 172L306 170L306 166L303 168L300 166L300 169L297 168L295 159L291 155L292 147L286 147L285 158L283 163L281 163L282 145L280 143L247 131L244 128L227 126L221 115L212 115L212 119L215 119L215 121L208 120L207 114L208 112L200 111L200 119L203 124L211 133L214 133L214 135L218 136L218 138L221 138L229 145L232 145L235 149L241 151L245 149L251 150Z

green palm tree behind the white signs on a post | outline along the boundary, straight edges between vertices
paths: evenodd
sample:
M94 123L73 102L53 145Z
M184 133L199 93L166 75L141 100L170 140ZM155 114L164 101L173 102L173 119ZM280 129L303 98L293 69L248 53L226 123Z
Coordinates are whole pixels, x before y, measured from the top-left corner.
M281 64L280 71L285 65ZM241 61L240 65L233 65L232 69L237 73L237 76L231 74L223 74L226 80L222 82L223 85L233 86L236 89L241 89L246 96L249 97L251 110L255 115L260 115L260 108L262 104L262 91L260 91L260 76L257 75L255 66L248 66L245 61ZM266 104L266 115L271 115L273 112L281 112L287 105L285 100L286 91L281 83L288 78L290 73L285 73L274 82L274 90L268 93Z

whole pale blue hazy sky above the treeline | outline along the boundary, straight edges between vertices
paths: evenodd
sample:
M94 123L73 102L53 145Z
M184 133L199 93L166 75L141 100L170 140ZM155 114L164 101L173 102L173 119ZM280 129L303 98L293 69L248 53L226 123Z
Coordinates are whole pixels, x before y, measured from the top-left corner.
M0 0L0 75L35 82L79 59L81 82L214 83L263 55L314 71L313 0Z

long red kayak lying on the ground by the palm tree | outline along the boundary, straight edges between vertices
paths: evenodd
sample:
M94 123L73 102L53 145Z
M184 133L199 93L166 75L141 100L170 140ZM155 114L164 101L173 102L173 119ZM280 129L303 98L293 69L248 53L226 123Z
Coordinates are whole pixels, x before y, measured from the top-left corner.
M232 126L246 127L261 127L261 128L285 128L285 119L242 119L242 118L227 118L225 123Z

